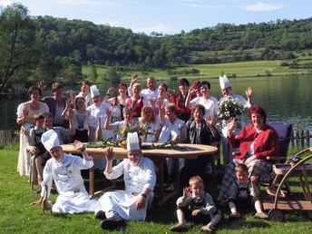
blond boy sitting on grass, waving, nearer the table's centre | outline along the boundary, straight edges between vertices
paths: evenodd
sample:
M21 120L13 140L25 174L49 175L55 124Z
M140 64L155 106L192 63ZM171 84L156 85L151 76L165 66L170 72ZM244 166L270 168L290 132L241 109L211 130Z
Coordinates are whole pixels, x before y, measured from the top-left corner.
M194 176L190 178L189 183L190 187L183 189L183 197L177 200L176 215L179 223L171 227L171 231L187 231L185 219L188 219L195 223L210 221L207 226L200 229L202 232L210 233L213 226L221 219L221 215L217 214L213 217L216 207L210 194L204 191L203 180L199 176Z

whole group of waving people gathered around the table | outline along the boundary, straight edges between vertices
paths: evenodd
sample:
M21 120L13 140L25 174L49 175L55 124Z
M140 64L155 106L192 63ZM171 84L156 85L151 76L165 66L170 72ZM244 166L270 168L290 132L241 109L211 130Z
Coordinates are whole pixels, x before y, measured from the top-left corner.
M29 89L31 101L20 104L17 109L17 123L22 125L24 133L20 137L17 170L21 175L28 175L30 154L34 155L38 181L43 188L42 199L34 204L44 202L44 193L47 192L44 185L51 188L54 180L60 193L54 204L55 212L95 211L95 217L102 219L102 229L119 227L125 219L144 220L153 197L156 175L152 161L142 157L139 137L143 142L173 140L208 145L219 142L221 138L226 168L216 205L210 194L203 190L208 156L180 161L179 169L174 168L175 163L168 159L169 180L172 180L174 170L180 170L180 179L190 184L177 201L179 223L171 230L185 231L185 219L203 218L210 221L200 230L209 232L221 219L220 207L224 205L229 204L230 218L240 217L237 209L239 200L253 200L257 210L255 218L268 219L258 199L257 185L273 177L274 161L268 161L266 157L278 154L278 134L266 124L264 110L252 102L252 89L246 90L246 100L232 93L225 75L219 77L221 100L232 97L239 100L244 109L249 109L251 125L245 127L242 118L219 121L218 100L210 95L209 82L197 81L190 85L187 79L180 79L180 93L170 94L165 83L157 89L152 77L146 80L147 89L142 89L137 81L138 75L134 74L129 87L126 83L119 84L118 96L112 96L114 88L111 87L104 98L95 85L91 86L86 81L81 86L81 93L75 96L71 92L69 99L63 97L60 83L53 84L54 96L43 99L44 83ZM81 142L108 137L121 141L122 134L115 133L122 132L129 125L144 126L151 134L128 134L128 159L115 167L112 167L113 149L108 148L103 155L106 178L113 180L123 174L126 190L107 192L97 202L86 201L87 192L80 170L91 168L93 160ZM49 142L51 139L54 139L52 143ZM60 145L71 141L82 151L82 158L63 153ZM233 151L236 151L235 157Z

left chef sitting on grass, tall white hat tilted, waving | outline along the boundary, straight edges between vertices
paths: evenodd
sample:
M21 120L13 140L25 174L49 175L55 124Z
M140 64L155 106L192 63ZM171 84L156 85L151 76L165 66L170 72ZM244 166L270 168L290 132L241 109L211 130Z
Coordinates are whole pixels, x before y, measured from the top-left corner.
M81 175L81 170L93 167L93 158L85 151L83 143L81 141L74 142L74 147L83 154L83 158L81 158L63 152L54 130L44 132L41 141L45 149L52 155L52 159L47 161L44 167L41 198L32 202L31 205L43 203L45 193L47 192L49 196L54 180L59 196L52 207L52 211L70 214L94 212L96 200L89 199ZM48 190L45 189L45 185L47 185Z

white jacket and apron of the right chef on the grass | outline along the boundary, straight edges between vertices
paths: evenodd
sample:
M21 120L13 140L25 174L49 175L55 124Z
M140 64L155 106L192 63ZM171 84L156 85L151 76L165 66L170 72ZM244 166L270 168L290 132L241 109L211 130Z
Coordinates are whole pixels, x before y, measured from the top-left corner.
M156 183L156 174L154 164L150 159L141 157L138 166L133 166L129 159L123 160L117 166L112 168L112 173L104 172L109 180L117 179L123 174L123 180L126 190L106 192L95 205L95 213L99 210L117 212L122 219L144 220L148 203L151 204L153 192ZM144 188L151 192L147 197L145 207L135 210L135 203L141 196Z

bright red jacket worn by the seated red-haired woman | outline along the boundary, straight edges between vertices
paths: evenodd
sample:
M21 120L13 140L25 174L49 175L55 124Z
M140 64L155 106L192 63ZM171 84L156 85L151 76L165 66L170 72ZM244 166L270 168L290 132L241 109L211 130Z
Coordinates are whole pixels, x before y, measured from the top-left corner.
M267 160L267 156L278 156L278 133L267 124L264 125L263 130L259 133L256 132L253 125L249 125L236 138L234 134L231 137L228 136L230 146L239 148L240 151L240 154L235 159L245 158L251 143L255 139L254 155L256 155L258 160Z

